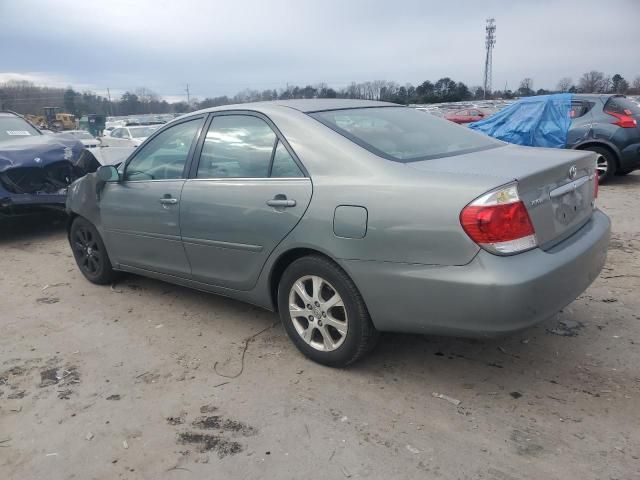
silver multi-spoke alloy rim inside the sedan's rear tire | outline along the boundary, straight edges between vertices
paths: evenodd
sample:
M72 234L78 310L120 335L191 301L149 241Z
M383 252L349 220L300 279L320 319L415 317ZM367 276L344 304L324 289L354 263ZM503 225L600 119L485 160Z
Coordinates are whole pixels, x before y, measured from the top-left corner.
M316 350L336 350L347 338L349 321L342 297L322 277L307 275L294 282L289 314L296 332Z

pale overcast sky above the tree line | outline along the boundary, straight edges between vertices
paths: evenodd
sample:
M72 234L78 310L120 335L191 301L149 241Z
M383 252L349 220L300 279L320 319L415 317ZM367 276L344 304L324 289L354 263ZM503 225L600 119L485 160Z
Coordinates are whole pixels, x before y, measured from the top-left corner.
M538 88L587 70L640 75L640 0L0 0L0 81L169 100L290 84L443 76Z

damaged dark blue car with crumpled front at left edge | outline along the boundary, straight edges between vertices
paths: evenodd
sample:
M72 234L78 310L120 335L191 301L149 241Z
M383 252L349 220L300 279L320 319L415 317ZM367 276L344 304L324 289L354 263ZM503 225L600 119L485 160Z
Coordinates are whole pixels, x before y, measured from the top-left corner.
M99 164L71 135L45 135L0 111L0 216L64 208L67 187Z

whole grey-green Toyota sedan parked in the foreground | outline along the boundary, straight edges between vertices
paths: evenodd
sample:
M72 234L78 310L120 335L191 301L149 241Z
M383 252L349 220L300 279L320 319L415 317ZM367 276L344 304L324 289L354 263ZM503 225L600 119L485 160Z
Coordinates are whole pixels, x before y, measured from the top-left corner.
M599 274L596 155L507 145L357 100L218 107L163 126L71 185L69 241L94 283L132 272L278 311L313 360L379 331L495 335Z

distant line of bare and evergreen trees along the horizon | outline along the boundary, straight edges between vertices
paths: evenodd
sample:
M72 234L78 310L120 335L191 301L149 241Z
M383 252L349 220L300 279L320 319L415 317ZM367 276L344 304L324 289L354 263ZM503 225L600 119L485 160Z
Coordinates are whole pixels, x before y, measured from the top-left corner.
M516 90L495 90L488 92L486 98L511 99L556 92L640 94L640 76L630 83L620 74L608 76L593 70L583 74L575 83L569 77L560 79L554 90L543 88L534 90L533 80L524 78ZM287 85L280 89L245 89L233 96L207 97L203 100L194 98L189 103L185 101L169 103L145 87L127 91L119 98L109 99L90 91L77 92L71 87L42 87L31 82L15 80L0 84L0 110L14 110L21 114L41 114L44 107L59 107L76 116L87 113L103 115L185 113L233 103L300 98L353 98L407 105L481 100L485 98L485 92L482 87L469 88L463 82L443 77L436 82L425 80L415 86L410 83L400 85L386 80L352 82L339 89L331 88L326 83L306 86Z

